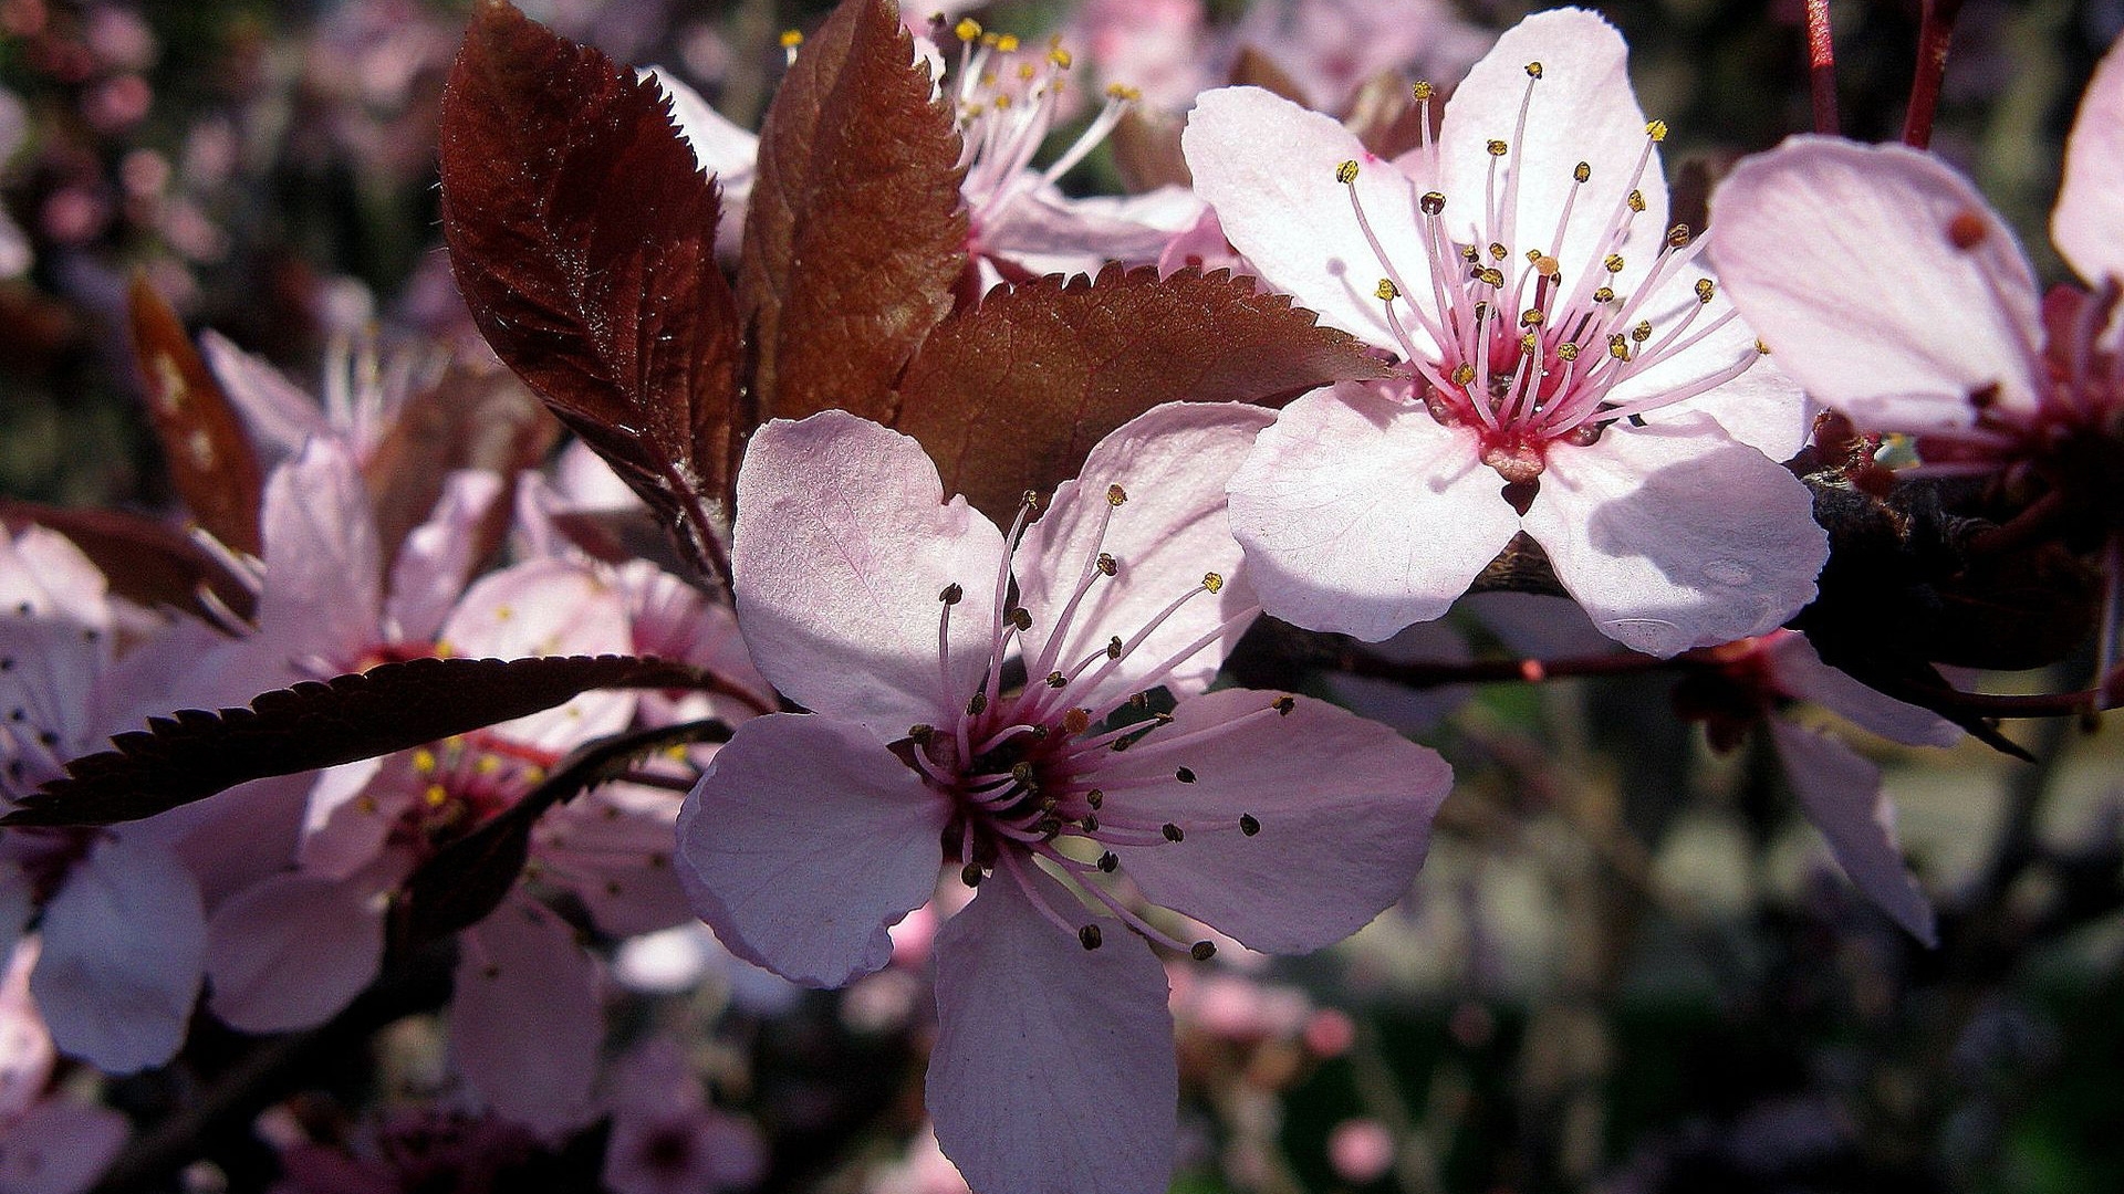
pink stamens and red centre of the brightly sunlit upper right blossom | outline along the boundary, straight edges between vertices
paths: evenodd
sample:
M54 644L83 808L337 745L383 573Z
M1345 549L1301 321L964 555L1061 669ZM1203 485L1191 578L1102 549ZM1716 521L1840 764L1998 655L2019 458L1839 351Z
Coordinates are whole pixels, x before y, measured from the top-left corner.
M1580 204L1593 166L1578 161L1555 223L1521 221L1519 187L1527 170L1521 147L1540 81L1542 64L1529 62L1512 138L1485 142L1489 172L1480 195L1449 200L1444 191L1425 191L1417 200L1417 232L1425 249L1417 287L1404 280L1357 198L1359 161L1336 168L1357 227L1378 259L1383 276L1374 293L1395 346L1419 380L1425 408L1449 427L1474 431L1483 463L1514 484L1542 474L1551 446L1591 444L1616 419L1635 419L1712 391L1744 374L1763 353L1757 344L1757 351L1657 395L1610 399L1618 385L1716 334L1733 310L1699 319L1712 306L1714 283L1699 276L1689 287L1676 285L1706 246L1706 238L1686 225L1667 229L1657 261L1633 293L1616 291L1629 268L1623 249L1646 210L1638 185L1648 168L1657 168L1655 147L1667 136L1661 121L1646 125L1629 187L1610 210ZM1417 85L1417 102L1423 115L1419 127L1425 130L1419 155L1427 176L1438 178L1440 147L1429 136L1427 83ZM1451 225L1449 208L1461 212ZM1597 229L1591 240L1570 236L1587 225ZM1576 257L1568 259L1574 251Z

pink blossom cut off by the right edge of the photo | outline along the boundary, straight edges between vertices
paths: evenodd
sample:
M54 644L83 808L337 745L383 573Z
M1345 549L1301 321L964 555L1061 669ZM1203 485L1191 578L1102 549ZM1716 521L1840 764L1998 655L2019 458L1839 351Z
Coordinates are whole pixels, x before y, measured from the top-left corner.
M2120 656L2124 516L2124 49L2067 140L2052 240L2092 287L2041 297L2007 223L1948 164L1901 144L1795 136L1718 189L1720 276L1812 395L1918 436L1920 472L1992 476L2103 544L2099 669ZM1880 285L1895 278L1895 285Z

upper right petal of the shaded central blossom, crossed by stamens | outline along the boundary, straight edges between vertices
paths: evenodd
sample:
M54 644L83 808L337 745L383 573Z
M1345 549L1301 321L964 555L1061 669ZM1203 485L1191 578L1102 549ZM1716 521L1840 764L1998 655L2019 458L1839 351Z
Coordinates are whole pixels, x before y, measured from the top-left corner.
M1068 667L1111 635L1132 639L1158 612L1200 586L1204 574L1226 580L1217 595L1187 601L1100 688L1075 697L1077 703L1100 707L1143 688L1151 667L1253 605L1223 487L1247 459L1255 433L1272 421L1274 414L1257 406L1158 406L1100 440L1083 461L1083 476L1056 489L1054 506L1032 525L1015 557L1020 599L1034 627L1028 642L1037 646L1047 644L1060 612L1092 578L1064 644L1051 648L1054 667ZM1126 495L1121 506L1109 501L1113 484ZM1100 550L1119 565L1111 580L1092 576ZM1232 627L1175 671L1168 680L1175 690L1206 688L1245 629L1245 622Z

